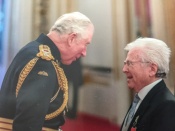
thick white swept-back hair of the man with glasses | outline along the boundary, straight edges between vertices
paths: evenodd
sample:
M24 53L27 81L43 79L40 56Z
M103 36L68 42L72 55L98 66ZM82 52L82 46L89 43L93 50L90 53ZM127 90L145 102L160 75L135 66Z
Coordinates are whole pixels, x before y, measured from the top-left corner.
M171 50L165 42L155 38L138 38L124 49L130 51L134 48L141 49L140 57L143 61L157 64L156 77L166 77L169 72Z

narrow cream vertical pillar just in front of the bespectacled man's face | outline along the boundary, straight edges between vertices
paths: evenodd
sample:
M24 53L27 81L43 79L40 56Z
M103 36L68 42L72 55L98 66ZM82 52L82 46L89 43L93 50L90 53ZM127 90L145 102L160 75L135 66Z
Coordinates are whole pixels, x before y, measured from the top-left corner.
M130 104L130 92L126 85L126 79L122 72L123 61L126 54L124 47L128 43L128 16L127 1L112 0L112 19L113 19L113 61L116 87L116 103L117 106L117 124L121 124ZM112 107L111 107L112 108Z

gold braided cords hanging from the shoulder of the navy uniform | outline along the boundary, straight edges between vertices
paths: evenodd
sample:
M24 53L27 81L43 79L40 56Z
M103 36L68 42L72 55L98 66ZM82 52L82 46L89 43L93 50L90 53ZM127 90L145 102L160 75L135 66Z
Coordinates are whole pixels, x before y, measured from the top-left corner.
M28 76L28 74L30 73L30 71L33 69L34 65L36 64L36 62L38 61L38 57L33 58L32 60L30 60L26 66L23 68L23 70L21 71L20 75L19 75L19 79L18 79L18 83L17 83L17 87L16 87L16 97L18 96L19 90L21 89L21 86L24 82L24 80L26 79L26 77ZM68 83L67 83L67 78L64 74L64 71L61 67L59 67L59 65L52 61L52 64L56 70L56 74L57 74L57 78L58 78L58 84L60 85L61 90L63 91L63 103L62 105L53 113L47 114L45 117L45 120L50 120L55 118L56 116L58 116L66 107L67 102L68 102ZM56 92L56 94L54 95L54 97L51 98L51 102L56 98L56 96L58 95L59 89Z

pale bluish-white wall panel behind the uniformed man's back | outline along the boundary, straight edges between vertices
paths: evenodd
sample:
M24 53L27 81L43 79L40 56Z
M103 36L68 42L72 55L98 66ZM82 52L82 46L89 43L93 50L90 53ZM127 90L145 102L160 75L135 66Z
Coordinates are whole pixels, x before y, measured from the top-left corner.
M15 0L8 3L10 18L8 21L8 42L5 46L8 52L5 65L8 66L18 52L32 38L32 1ZM27 5L27 6L26 6Z

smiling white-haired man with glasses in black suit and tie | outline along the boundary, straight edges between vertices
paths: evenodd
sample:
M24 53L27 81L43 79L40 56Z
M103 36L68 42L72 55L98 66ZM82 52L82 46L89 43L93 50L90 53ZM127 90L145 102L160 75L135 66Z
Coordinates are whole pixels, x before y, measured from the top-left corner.
M121 131L175 131L175 98L163 80L169 71L170 49L161 40L138 38L125 50L123 72L138 102L131 104Z

